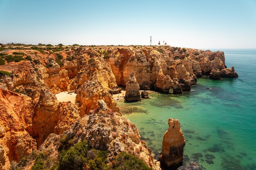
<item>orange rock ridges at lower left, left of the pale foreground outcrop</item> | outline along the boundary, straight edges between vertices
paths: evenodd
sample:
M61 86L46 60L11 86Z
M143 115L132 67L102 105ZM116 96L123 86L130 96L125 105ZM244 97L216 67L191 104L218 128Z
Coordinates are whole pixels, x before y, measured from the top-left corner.
M71 102L58 103L47 90L33 100L0 88L0 169L36 150L50 133L67 130L79 118L77 109Z

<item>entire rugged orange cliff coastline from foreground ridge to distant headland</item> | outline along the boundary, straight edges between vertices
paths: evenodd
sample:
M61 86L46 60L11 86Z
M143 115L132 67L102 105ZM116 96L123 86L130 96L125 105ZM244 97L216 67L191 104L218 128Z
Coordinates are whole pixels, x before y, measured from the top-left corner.
M118 86L131 85L126 99L140 100L139 90L182 93L202 75L238 77L234 67L226 68L220 51L162 46L66 46L58 47L58 52L33 48L1 53L5 60L0 66L1 169L9 169L33 150L48 148L49 143L56 160L58 140L64 134L107 150L109 162L126 151L159 170L159 161L140 141L136 126L120 114L113 98L121 92ZM21 60L10 60L17 54ZM58 102L55 94L63 91L76 93L74 104ZM33 166L33 160L23 168L27 166Z

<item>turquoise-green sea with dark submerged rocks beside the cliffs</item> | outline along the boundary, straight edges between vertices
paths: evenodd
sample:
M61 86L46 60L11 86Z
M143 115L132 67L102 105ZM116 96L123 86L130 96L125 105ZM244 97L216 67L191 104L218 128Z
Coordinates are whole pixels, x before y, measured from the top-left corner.
M152 92L151 99L119 100L118 105L156 158L168 118L176 118L186 139L184 164L196 161L206 170L256 170L256 49L219 50L225 53L227 67L235 66L238 78L198 78L183 94Z

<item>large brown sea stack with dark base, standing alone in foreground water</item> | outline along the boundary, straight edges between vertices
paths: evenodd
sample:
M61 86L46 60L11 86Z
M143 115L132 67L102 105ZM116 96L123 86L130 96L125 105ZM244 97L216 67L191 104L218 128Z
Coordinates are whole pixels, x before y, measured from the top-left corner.
M164 133L162 152L159 161L166 167L177 168L183 161L183 148L186 144L178 119L168 119L169 128Z

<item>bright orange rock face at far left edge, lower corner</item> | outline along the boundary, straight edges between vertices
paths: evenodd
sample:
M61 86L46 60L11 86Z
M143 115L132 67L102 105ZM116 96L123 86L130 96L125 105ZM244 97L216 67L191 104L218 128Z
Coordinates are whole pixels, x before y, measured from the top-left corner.
M0 88L0 169L8 169L11 161L36 149L36 140L29 135L32 126L31 98Z

